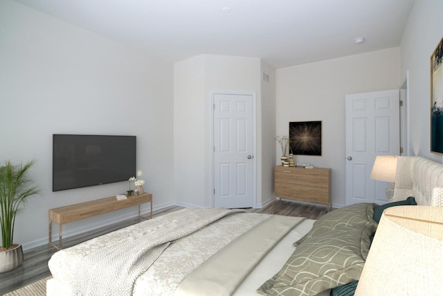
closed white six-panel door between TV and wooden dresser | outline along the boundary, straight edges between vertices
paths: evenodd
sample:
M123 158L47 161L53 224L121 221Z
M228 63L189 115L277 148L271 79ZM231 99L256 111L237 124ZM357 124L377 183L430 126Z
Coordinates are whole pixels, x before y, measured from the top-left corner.
M253 96L214 94L214 205L253 206Z

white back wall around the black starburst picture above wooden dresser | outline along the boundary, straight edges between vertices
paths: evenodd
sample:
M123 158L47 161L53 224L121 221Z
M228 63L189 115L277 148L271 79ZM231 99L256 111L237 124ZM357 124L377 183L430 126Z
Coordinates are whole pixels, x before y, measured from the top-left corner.
M345 95L400 87L399 48L352 55L276 71L279 135L290 121L323 121L322 156L296 155L295 162L332 168L332 204L345 204ZM275 164L280 162L280 147Z

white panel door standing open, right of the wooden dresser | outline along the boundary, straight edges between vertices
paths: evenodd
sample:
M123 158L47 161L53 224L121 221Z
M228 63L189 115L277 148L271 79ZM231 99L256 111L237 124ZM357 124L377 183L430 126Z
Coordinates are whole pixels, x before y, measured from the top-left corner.
M388 182L370 179L377 155L399 155L399 90L346 95L346 204L384 204Z

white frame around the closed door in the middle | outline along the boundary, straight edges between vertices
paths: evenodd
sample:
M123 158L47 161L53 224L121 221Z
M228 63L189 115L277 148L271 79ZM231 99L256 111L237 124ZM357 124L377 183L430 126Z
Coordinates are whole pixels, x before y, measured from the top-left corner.
M214 180L214 96L216 94L233 94L239 96L252 96L252 139L253 139L253 159L252 159L252 207L257 207L257 96L255 92L212 90L210 91L210 192L212 194L211 207L215 201L215 180Z

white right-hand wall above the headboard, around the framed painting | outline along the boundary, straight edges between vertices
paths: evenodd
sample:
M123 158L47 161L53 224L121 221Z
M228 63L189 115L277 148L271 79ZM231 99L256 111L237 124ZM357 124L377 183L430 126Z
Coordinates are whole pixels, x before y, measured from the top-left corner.
M401 40L401 74L409 71L410 155L431 153L431 55L443 37L443 1L415 0Z

